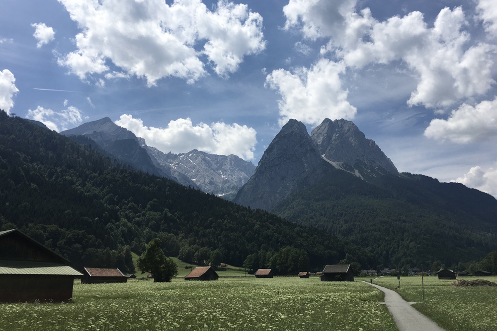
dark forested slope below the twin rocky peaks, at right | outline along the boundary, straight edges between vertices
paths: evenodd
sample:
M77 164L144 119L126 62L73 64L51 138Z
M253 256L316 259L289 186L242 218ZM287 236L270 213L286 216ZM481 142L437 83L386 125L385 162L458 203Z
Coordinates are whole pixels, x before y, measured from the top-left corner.
M331 169L271 211L350 240L380 268L455 266L497 249L497 200L423 175L384 175L367 183Z

